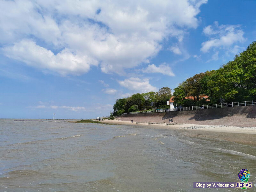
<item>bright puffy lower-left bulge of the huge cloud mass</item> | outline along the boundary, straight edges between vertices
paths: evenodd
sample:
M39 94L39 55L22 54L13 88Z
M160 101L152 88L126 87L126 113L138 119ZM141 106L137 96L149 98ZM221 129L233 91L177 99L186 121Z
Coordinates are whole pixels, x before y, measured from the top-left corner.
M13 46L3 49L4 54L12 59L20 60L29 66L49 69L60 74L87 72L91 65L97 65L97 61L83 55L64 49L57 55L43 47L36 45L32 40L24 39Z

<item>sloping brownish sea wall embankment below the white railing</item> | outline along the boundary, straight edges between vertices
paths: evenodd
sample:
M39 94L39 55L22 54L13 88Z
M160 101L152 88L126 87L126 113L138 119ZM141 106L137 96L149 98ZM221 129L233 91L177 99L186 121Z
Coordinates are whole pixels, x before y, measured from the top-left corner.
M174 123L256 127L256 106L127 114L118 117L117 120L169 123L171 118Z

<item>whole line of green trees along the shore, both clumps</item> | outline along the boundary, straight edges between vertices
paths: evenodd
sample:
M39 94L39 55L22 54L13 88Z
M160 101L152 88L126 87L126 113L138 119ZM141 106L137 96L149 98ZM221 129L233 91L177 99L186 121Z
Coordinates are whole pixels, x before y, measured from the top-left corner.
M180 83L174 91L175 107L256 100L256 42L219 69L196 74ZM133 94L117 99L110 115L169 108L166 102L171 97L169 87L163 87L158 92Z

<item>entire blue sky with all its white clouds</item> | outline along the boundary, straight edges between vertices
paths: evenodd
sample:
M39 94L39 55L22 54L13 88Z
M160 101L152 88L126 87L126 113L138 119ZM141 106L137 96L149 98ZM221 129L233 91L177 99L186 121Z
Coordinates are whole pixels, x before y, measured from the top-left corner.
M95 118L255 41L256 1L0 1L0 118Z

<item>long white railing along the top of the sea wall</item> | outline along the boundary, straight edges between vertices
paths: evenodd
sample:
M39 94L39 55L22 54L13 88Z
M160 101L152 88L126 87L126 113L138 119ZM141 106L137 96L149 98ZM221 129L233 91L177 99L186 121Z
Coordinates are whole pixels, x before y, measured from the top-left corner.
M168 112L168 111L188 111L188 110L198 110L198 109L212 109L212 108L223 108L223 107L238 107L238 106L249 106L256 105L256 101L240 101L240 102L232 102L232 103L220 103L220 104L212 104L212 105L201 105L201 106L192 106L192 107L180 107L174 109L154 109L148 111L135 111L124 113L127 114L139 114L139 113L157 113L157 112Z

